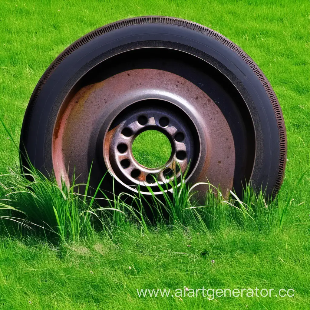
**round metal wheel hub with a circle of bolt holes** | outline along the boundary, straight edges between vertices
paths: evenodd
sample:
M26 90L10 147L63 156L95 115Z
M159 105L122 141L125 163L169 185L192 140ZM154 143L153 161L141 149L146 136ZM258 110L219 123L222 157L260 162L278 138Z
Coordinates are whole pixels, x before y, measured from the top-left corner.
M110 128L106 135L103 144L104 161L110 167L111 174L126 184L155 187L157 183L168 183L174 176L179 177L189 163L193 164L194 150L190 129L176 113L155 107L154 103L157 101L162 102L152 100L153 108L138 108L129 115L124 115L118 120L119 124ZM170 141L171 155L163 166L148 168L137 162L133 156L133 141L147 130L158 130Z

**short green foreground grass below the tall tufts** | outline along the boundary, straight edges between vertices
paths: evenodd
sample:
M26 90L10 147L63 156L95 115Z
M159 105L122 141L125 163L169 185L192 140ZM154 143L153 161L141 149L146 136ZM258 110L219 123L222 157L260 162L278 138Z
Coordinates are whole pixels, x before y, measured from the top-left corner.
M285 232L161 228L142 234L131 226L113 239L98 234L57 247L6 239L0 244L1 302L4 309L309 309L309 244L296 242L304 233L293 226ZM293 299L181 301L136 292L184 286L294 287L297 293Z

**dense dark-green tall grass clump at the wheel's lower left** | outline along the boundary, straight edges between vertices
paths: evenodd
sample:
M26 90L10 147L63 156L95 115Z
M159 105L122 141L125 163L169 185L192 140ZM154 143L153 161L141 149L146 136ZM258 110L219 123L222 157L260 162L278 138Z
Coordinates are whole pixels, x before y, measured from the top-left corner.
M0 205L9 211L2 219L23 228L42 228L44 234L55 233L62 240L75 241L81 234L91 233L90 217L82 213L86 203L75 193L74 184L60 188L54 179L34 169L26 176L14 171L1 175L5 195Z

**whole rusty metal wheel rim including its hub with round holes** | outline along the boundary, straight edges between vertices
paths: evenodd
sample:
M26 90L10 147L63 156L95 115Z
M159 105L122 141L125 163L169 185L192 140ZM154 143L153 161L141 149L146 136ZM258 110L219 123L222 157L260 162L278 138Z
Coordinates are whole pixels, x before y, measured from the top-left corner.
M115 102L118 109L108 108ZM141 116L146 117L147 123L139 123ZM170 125L162 126L163 117ZM127 137L122 134L125 128L131 130ZM146 168L132 156L134 138L147 129L159 130L170 140L172 153L162 167ZM184 134L184 141L176 141L178 132ZM121 144L126 145L126 151L117 149ZM224 195L232 188L234 141L224 115L199 87L167 71L133 69L118 73L84 86L64 100L52 144L53 167L59 184L62 179L69 184L74 172L87 179L93 161L90 154L94 154L90 150L95 150L102 168L95 173L103 176L104 168L108 168L120 184L133 191L139 185L145 194L149 194L145 186L154 187L156 194L162 193L150 177L154 175L159 184L167 183L169 178L166 179L164 171L176 171L177 163L180 166L177 176L189 164L186 181L209 181L215 187L220 186ZM135 169L139 175L132 175Z

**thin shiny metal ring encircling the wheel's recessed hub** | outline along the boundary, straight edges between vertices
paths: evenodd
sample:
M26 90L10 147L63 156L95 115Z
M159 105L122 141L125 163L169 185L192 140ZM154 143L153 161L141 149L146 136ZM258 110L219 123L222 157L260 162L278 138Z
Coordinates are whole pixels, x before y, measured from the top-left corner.
M170 94L170 93L167 92L167 94ZM171 95L173 95L173 94L171 94ZM176 96L175 96L175 97L176 97ZM182 99L182 98L180 98L180 99ZM192 117L190 117L190 116L188 115L188 113L187 113L183 108L181 108L180 106L176 105L176 104L173 103L172 101L167 100L167 98L158 98L158 97L143 98L143 99L137 99L137 100L135 100L135 101L133 101L133 102L131 102L131 103L129 103L130 100L128 100L128 103L129 103L129 104L127 104L125 107L123 107L121 111L118 111L118 113L112 118L112 120L110 120L110 122L109 122L107 125L106 125L106 124L103 124L103 125L102 125L102 127L106 127L106 128L107 128L107 130L106 130L105 133L104 133L103 145L105 144L105 141L106 141L106 138L107 138L108 129L111 127L111 125L112 125L113 121L115 120L115 118L116 118L120 113L122 113L126 108L130 107L130 106L133 105L133 104L138 103L139 101L143 101L143 100L162 100L162 101L169 102L170 104L172 104L172 105L175 106L176 108L181 109L182 112L184 112L184 113L186 114L186 116L190 119L190 121L191 121L191 122L193 123L193 125L195 126L195 130L196 130L196 132L197 132L197 136L199 137L199 154L198 154L198 157L197 157L197 159L196 159L195 166L193 166L193 169L191 169L191 170L192 170L191 173L188 174L188 175L186 176L185 180L184 180L185 182L188 182L188 180L190 180L191 177L193 176L193 174L195 173L195 171L196 171L196 169L197 169L197 166L199 165L199 162L200 162L200 159L201 159L201 136L199 135L198 128L197 128L197 126L196 126L196 123L193 121ZM186 103L187 103L187 101L185 101L185 100L182 100L182 102L184 102L184 103L186 102ZM169 139L169 138L168 138L168 139ZM169 142L170 142L170 139L169 139ZM173 158L171 158L172 156L173 156L173 153L171 152L171 156L170 156L168 162L170 162L170 159L173 161ZM107 169L108 169L110 175L112 175L113 178L117 179L117 181L118 181L120 184L122 184L123 186L125 186L126 188L130 189L131 191L133 191L133 192L135 192L135 193L143 193L144 195L145 195L145 194L146 194L146 195L151 195L151 193L150 193L149 191L138 191L136 188L130 187L128 184L124 183L121 179L119 179L119 177L115 174L115 172L113 172L113 168L111 167L111 163L110 163L110 161L107 159L107 156L103 156L103 158L104 158L104 163L105 163L105 165L106 165L106 167L107 167ZM133 158L134 158L134 160L136 161L136 159L135 159L134 156L133 156ZM136 162L137 162L137 161L136 161ZM138 163L138 162L137 162L137 163ZM138 163L138 164L139 164L139 163ZM141 165L141 164L139 164L139 165ZM142 165L141 165L141 166L142 166ZM163 166L165 166L165 165L163 165ZM142 167L143 167L143 166L142 166ZM158 168L159 168L159 167L158 167ZM155 168L154 171L157 171L158 168ZM150 168L147 168L147 169L150 169ZM151 169L150 169L150 170L151 170ZM181 169L181 171L182 171L182 169ZM183 173L183 172L184 172L184 170L182 171L182 173ZM179 174L177 174L177 176L179 176ZM180 185L181 185L181 183L178 183L178 184L177 184L177 187L179 187ZM143 187L144 185L140 184L140 186ZM173 192L173 188L169 188L169 189L167 189L167 190L164 190L164 192ZM162 194L162 191L157 191L157 192L153 192L153 193L154 193L155 195L160 195L160 194Z

